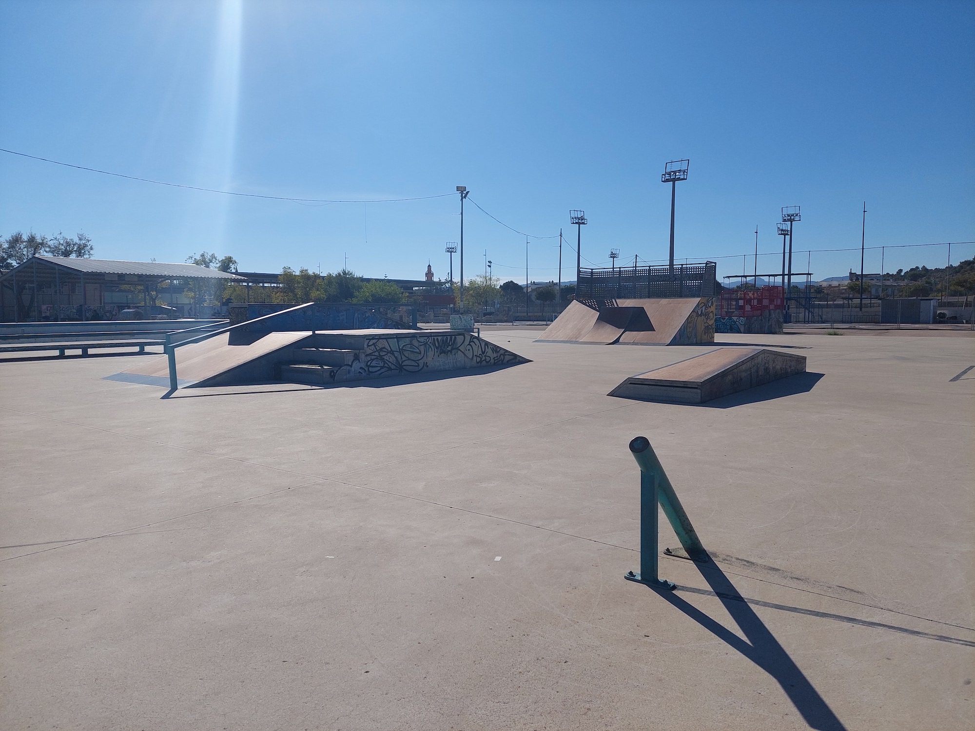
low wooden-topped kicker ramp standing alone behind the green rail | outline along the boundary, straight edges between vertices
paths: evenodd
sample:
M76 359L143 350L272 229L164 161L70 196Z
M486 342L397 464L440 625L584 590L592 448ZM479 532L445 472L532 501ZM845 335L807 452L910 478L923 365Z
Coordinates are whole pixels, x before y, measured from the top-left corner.
M805 372L805 356L765 348L722 348L631 376L608 396L704 404Z

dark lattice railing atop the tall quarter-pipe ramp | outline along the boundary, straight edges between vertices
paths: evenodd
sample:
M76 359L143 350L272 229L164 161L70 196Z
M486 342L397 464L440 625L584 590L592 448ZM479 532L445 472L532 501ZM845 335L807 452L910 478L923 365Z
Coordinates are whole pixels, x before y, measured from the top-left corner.
M718 291L714 261L667 266L580 269L576 294L596 299L713 297Z

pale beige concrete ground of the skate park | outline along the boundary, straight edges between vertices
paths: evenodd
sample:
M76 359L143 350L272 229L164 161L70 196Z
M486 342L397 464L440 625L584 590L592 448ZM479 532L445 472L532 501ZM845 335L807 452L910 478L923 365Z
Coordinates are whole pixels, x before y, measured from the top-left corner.
M0 727L972 728L975 340L719 336L809 372L688 406L605 394L704 347L537 332L169 399L0 365ZM623 580L638 435L717 559L674 593Z

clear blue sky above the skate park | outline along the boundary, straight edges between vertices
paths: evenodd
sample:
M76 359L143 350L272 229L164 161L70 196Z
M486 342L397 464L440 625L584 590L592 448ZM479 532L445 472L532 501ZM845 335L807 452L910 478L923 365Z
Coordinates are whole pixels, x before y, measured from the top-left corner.
M972 2L4 0L0 147L263 195L467 185L509 225L573 245L568 211L585 210L582 252L601 265L610 247L666 258L660 173L683 157L682 259L752 251L756 224L760 250L780 250L779 209L797 204L797 250L859 247L864 201L868 246L973 241L973 39ZM209 250L242 270L330 271L347 254L367 276L420 278L428 259L446 276L458 209L231 198L0 153L0 234L84 231L102 258ZM530 242L532 280L557 276L557 242ZM525 237L470 204L465 247L465 274L487 250L524 281ZM887 250L884 268L946 253ZM812 269L859 258L813 254Z

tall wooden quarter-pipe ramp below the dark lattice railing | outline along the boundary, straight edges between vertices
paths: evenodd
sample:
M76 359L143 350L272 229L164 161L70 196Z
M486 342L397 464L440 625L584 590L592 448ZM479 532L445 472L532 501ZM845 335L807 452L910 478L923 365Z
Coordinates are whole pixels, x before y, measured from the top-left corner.
M574 300L537 340L591 345L714 341L714 297Z

